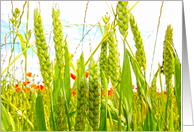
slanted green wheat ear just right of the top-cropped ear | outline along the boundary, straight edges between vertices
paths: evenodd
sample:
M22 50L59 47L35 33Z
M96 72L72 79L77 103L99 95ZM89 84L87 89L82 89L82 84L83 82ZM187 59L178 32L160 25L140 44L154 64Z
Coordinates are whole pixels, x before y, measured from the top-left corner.
M135 53L136 60L139 64L139 66L143 69L143 71L146 71L146 56L145 56L145 50L144 50L144 45L143 41L141 38L140 31L138 30L137 23L135 22L134 16L130 12L130 25L131 25L131 30L133 32L134 36L134 41L135 41L135 47L137 48L137 51Z

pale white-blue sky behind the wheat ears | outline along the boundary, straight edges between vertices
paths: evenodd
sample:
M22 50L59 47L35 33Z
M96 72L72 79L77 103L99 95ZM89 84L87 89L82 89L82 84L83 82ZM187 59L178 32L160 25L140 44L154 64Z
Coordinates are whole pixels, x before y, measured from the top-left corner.
M129 2L129 7L131 7L136 1L130 1ZM45 2L41 1L41 14L43 17L44 21L44 29L45 32L48 32L51 30L52 26L52 5L53 1ZM55 2L57 3L57 2ZM61 20L62 20L62 25L66 24L80 24L83 23L84 21L84 15L85 15L85 8L86 8L86 3L87 1L82 1L82 2L67 2L67 1L60 1L58 2L59 8L61 10ZM113 5L114 9L116 7L117 2L116 1L108 1L107 2L110 6L110 4ZM18 7L20 11L22 11L24 1L14 1L14 8ZM36 2L30 1L30 17L29 17L29 29L33 31L33 9L36 8ZM149 73L151 69L151 61L152 61L152 56L153 56L153 50L154 50L154 44L155 44L155 39L156 39L156 30L157 30L157 25L158 25L158 19L159 19L159 14L160 14L160 7L161 7L162 2L161 1L150 1L150 2L144 2L140 1L137 6L132 10L132 13L136 19L136 22L138 24L138 28L141 32L141 36L143 38L144 47L145 47L145 52L146 52L146 58L147 58L147 80L149 80ZM173 10L172 10L173 7ZM113 21L113 16L107 6L107 4L104 1L90 1L88 4L88 11L86 15L86 23L87 24L96 24L98 21L102 22L102 16L104 16L108 12L110 15L110 22ZM8 22L8 14L11 17L11 2L10 1L2 1L1 2L1 44L4 43L4 37L5 33L9 31L9 22ZM172 1L172 2L164 2L163 6L163 11L162 11L162 16L161 16L161 21L160 21L160 27L159 27L159 33L158 33L158 39L157 39L157 46L156 46L156 52L155 52L155 57L154 57L154 65L153 65L153 71L152 75L156 72L156 69L158 68L158 62L162 62L162 53L163 53L163 41L164 41L164 36L165 36L165 31L167 28L168 24L171 24L173 27L173 37L174 37L174 44L175 48L178 52L179 58L182 62L182 2L181 1ZM27 14L26 14L26 8L24 11L24 15L22 18L22 23L20 26L20 31L23 34L25 32L25 27L26 27L26 19L27 19ZM91 28L91 26L85 26L85 33ZM67 43L69 45L69 52L71 54L74 53L77 45L79 44L81 38L82 38L82 30L83 26L71 26L71 27L64 27L63 28L63 33L64 36L68 35ZM97 30L97 33L96 33ZM94 39L94 34L96 33L95 39ZM149 39L147 37L151 34ZM52 33L53 35L53 33ZM51 60L54 59L54 43L52 41L52 35L51 35L51 41L49 43L49 37L50 34L47 35L47 44L50 46L50 53L51 53ZM92 42L92 51L96 48L96 46L99 44L101 41L101 32L97 26L95 26L90 33L86 36L84 39L84 56L85 56L85 61L88 59L90 55L90 47L89 47L89 39L91 39ZM121 65L123 61L123 43L121 40L121 35L119 31L117 30L117 39L119 42L119 51L120 51L120 60L121 60ZM94 41L93 41L94 39ZM34 38L34 32L32 32L32 36L30 39L30 43L35 40ZM130 31L129 28L129 34L127 37L127 40L135 53L136 48L135 48L135 43L133 41L133 34ZM17 40L18 41L18 40ZM9 39L7 40L9 42ZM33 46L34 49L35 45ZM8 58L10 55L10 50L11 50L11 45L7 46L7 51L8 54L6 55L5 52L5 46L1 49L1 53L4 55L4 57L1 58ZM21 47L20 45L16 45L15 49L15 56L17 56L19 53L21 53ZM53 54L52 54L53 53ZM77 53L75 54L75 57L73 59L74 65L76 65L76 60L79 58L81 54L81 46L79 46ZM97 60L97 58L100 55L100 50L97 51L97 53L94 55L94 59ZM13 59L13 58L12 58ZM20 61L24 59L23 57L20 57L19 60L16 61L17 66L20 67ZM28 59L31 61L28 61L28 71L33 72L35 74L40 74L39 72L39 64L38 64L38 58L36 54L33 53L33 51L29 48L28 49ZM3 68L5 68L8 64L5 63L2 65ZM21 68L20 68L21 69ZM21 72L21 70L18 70L18 72ZM134 76L133 76L134 77ZM37 80L40 80L40 78L37 78ZM164 79L164 77L163 77ZM135 79L133 80L133 83L135 84ZM159 83L158 83L159 85Z

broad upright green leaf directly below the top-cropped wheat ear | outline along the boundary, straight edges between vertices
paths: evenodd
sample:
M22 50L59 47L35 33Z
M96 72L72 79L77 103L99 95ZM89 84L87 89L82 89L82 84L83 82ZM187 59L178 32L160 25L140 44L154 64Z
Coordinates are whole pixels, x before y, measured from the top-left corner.
M123 61L123 70L121 76L121 89L120 92L123 95L121 98L124 109L126 110L127 115L127 128L130 131L131 121L132 121L132 104L133 104L133 88L132 88L132 77L131 77L131 66L129 63L129 57L127 55L126 49L124 49L124 61Z

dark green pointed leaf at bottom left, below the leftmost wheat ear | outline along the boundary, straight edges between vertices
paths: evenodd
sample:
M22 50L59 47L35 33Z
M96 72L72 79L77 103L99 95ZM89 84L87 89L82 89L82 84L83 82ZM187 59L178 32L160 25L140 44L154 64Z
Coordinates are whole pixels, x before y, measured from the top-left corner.
M38 131L46 131L44 106L42 102L40 89L38 91L38 97L36 98L36 119L37 119Z

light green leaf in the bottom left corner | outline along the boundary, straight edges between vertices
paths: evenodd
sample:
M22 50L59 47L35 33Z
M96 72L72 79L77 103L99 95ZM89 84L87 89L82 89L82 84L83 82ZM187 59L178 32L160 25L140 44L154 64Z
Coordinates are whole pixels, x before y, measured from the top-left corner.
M10 113L7 112L4 105L1 102L1 131L16 131L15 124L13 122Z

